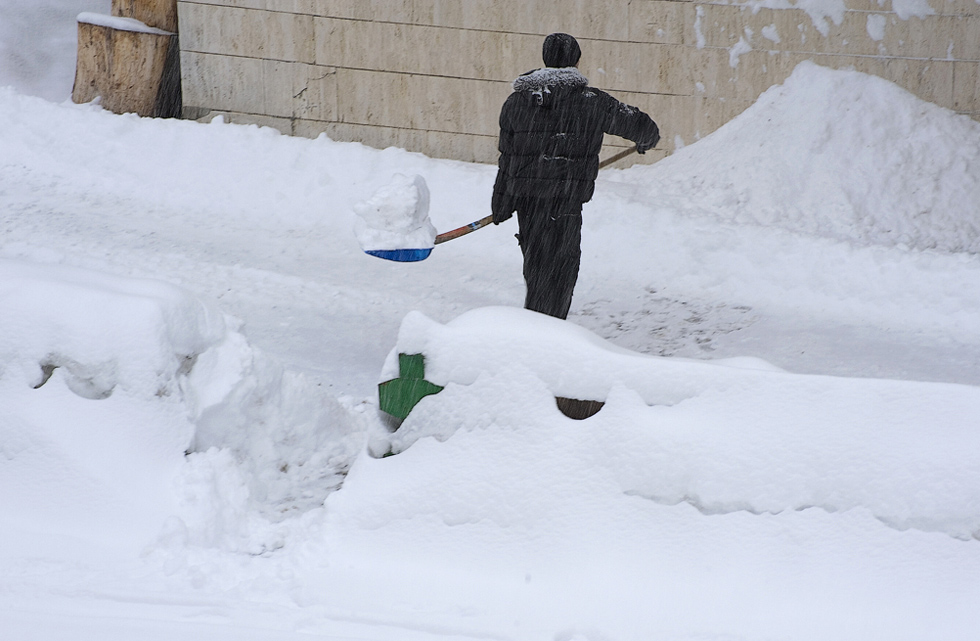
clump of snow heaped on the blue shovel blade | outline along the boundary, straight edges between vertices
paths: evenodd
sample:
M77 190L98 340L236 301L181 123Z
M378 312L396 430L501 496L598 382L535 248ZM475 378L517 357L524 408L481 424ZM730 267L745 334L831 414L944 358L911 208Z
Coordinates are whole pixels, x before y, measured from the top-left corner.
M429 220L429 188L422 176L395 174L374 196L356 203L354 233L367 250L428 249L436 228Z

